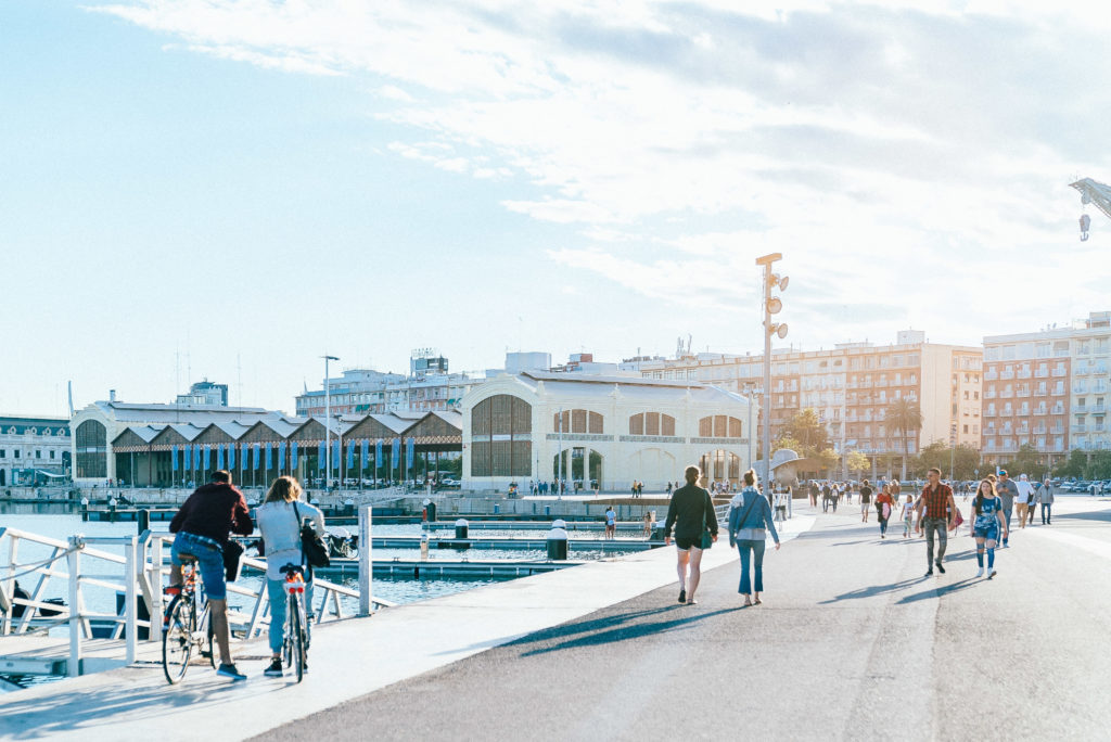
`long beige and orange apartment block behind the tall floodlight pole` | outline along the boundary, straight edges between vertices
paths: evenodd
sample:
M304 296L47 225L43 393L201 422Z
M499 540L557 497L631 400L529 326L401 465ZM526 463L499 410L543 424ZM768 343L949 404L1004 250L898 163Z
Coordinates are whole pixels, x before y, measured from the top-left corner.
M914 455L934 441L980 447L980 348L927 342L920 331L899 332L890 345L839 343L830 350L772 352L769 414L774 439L800 410L811 408L824 423L833 449L861 451L880 468L881 459ZM697 381L759 398L763 355L688 354L678 359L635 359L621 364L644 378ZM887 410L895 400L915 402L922 428L907 435ZM763 418L758 425L762 434Z

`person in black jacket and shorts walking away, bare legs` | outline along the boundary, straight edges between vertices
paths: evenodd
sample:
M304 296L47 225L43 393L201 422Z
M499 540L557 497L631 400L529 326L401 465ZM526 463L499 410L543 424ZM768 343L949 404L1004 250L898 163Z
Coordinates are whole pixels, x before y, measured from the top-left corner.
M698 467L688 467L683 471L687 484L675 490L663 523L664 545L671 543L671 527L675 528L679 602L690 605L698 603L694 592L701 578L702 551L718 540L718 515L713 512L713 500L709 492L695 484L701 475Z

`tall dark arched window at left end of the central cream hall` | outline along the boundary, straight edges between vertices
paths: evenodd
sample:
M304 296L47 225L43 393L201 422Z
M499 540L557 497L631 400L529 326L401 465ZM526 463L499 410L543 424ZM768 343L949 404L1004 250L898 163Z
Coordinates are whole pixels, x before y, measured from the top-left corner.
M532 473L532 405L496 394L471 410L471 477Z

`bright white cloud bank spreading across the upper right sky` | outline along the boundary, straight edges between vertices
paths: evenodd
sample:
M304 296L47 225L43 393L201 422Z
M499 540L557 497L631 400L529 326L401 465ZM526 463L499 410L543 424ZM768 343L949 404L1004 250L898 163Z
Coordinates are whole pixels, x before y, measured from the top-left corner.
M963 337L1015 312L1028 324L1059 317L1045 314L1060 297L985 292L1000 270L1034 287L1088 255L1089 274L1107 277L1111 240L1099 230L1111 223L1093 214L1098 229L1078 252L1080 209L1065 186L1070 172L1111 174L1100 147L1111 94L1077 71L1078 59L1111 62L1111 14L1007 0L738 4L137 0L97 10L200 53L373 78L388 103L379 117L410 132L392 152L528 181L507 210L613 248L569 247L551 253L557 262L649 298L705 307L737 295L760 248L783 252L807 287L792 301L813 337L835 337L837 307L852 302L903 308L935 338ZM704 295L673 288L675 274L698 275ZM1073 308L1103 299L1081 288L1070 301L1082 313ZM851 322L892 317L902 319L881 309Z

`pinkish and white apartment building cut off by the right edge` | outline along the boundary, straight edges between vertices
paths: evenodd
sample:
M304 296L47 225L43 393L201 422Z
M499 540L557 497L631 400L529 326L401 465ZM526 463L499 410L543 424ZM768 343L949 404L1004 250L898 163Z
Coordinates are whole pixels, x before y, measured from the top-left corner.
M1049 465L1111 449L1107 411L1111 312L1062 328L983 339L982 451L1005 463L1032 445Z

